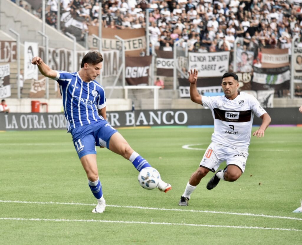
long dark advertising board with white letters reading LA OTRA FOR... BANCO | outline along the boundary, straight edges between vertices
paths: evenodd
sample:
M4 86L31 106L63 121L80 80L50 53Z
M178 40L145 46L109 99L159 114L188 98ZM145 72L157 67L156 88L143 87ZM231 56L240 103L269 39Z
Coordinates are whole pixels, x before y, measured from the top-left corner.
M267 108L267 112L274 124L299 124L302 120L302 114L296 107ZM106 117L108 123L114 128L134 125L139 127L214 124L212 111L209 109L136 110L135 113L110 111L106 112ZM261 122L261 119L254 117L254 125L259 125ZM63 113L0 113L0 130L49 129L64 129L65 132L62 131L62 133L66 133L66 119Z

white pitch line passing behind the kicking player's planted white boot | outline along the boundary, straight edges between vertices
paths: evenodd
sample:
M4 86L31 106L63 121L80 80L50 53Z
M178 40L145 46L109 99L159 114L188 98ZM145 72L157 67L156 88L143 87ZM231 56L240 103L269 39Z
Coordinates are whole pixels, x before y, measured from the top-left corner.
M68 203L68 202L31 202L31 201L10 201L0 200L0 203L25 203L25 204L58 204L58 205L86 205L95 206L95 204L86 203ZM159 208L159 207L140 207L140 206L122 206L122 205L106 205L106 207L121 207L121 208L133 208L133 209L148 209L159 211L175 211L175 212L192 212L192 213L209 213L209 214L230 214L230 215L245 215L253 217L266 217L266 218L278 218L278 219L290 219L290 220L302 220L302 218L286 217L286 216L272 216L265 214L250 214L250 213L234 213L234 212L221 212L221 211L208 211L208 210L188 210L188 209L176 209L176 208Z

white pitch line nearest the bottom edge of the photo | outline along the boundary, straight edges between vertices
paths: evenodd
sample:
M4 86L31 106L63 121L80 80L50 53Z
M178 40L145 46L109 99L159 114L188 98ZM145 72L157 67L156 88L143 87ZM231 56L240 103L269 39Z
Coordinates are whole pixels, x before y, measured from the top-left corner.
M21 220L21 221L56 221L56 222L100 222L100 223L119 223L119 224L151 224L151 225L181 225L195 227L218 227L218 228L237 228L237 229L255 229L255 230L286 230L302 231L297 229L270 228L257 226L230 226L230 225L207 225L207 224L186 224L186 223L166 223L166 222L143 222L143 221L121 221L121 220L69 220L69 219L39 219L39 218L7 218L0 217L0 220Z

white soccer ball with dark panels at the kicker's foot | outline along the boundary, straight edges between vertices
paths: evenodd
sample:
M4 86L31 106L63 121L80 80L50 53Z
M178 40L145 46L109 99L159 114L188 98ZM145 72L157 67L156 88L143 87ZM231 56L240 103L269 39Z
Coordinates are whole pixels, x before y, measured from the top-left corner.
M138 182L140 183L140 186L147 190L156 188L159 180L159 172L152 167L143 168L138 174Z

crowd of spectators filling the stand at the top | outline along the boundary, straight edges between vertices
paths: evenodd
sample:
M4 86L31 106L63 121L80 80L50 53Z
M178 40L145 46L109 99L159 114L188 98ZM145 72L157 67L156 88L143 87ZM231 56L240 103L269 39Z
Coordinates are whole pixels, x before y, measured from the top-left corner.
M40 17L40 9L25 9ZM55 26L57 0L48 0L46 21ZM61 0L61 13L69 11L87 25L98 26L95 0ZM291 47L301 36L302 0L109 0L102 1L102 25L114 29L145 28L149 10L150 41L170 51L182 39L193 52L232 51L236 37L243 50Z

